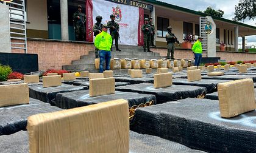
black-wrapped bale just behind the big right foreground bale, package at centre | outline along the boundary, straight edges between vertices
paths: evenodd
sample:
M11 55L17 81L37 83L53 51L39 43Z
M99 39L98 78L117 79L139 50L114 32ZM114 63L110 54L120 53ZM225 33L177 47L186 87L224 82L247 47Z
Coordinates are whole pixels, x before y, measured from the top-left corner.
M152 94L157 97L157 103L176 101L188 97L197 97L206 92L205 87L172 85L155 89L151 83L132 84L116 87L116 90L123 92L138 92L140 94Z

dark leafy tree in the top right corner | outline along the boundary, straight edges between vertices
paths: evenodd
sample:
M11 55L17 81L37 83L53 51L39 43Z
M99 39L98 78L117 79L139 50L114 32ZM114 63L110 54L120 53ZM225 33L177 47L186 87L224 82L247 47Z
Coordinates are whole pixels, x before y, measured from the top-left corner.
M246 19L254 19L256 16L255 0L240 0L238 5L235 5L235 18L234 21L241 21Z

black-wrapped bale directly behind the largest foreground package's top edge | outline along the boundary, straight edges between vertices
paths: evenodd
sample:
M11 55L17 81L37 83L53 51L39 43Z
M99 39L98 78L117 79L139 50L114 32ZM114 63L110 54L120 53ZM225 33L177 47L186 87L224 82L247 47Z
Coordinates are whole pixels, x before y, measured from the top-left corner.
M70 109L74 107L87 106L90 104L97 104L104 101L124 99L129 103L129 107L139 105L148 101L154 101L156 104L155 95L138 94L130 92L119 92L110 95L100 95L97 97L90 97L89 90L79 90L75 92L59 93L56 96L56 106L63 109Z

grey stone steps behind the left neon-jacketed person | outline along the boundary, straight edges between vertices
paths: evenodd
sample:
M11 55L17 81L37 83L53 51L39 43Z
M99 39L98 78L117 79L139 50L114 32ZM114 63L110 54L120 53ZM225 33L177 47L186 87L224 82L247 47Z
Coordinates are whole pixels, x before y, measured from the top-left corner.
M160 59L165 58L160 56L160 53L154 52L144 52L143 47L141 46L126 46L119 45L119 48L122 50L121 52L116 51L115 47L113 47L113 51L111 53L112 58L138 58L138 59ZM79 60L72 61L71 65L62 66L62 69L69 70L71 72L81 71L81 70L89 70L90 72L98 72L94 66L94 50L90 51L88 55L80 56ZM115 73L123 73L127 70L114 70Z

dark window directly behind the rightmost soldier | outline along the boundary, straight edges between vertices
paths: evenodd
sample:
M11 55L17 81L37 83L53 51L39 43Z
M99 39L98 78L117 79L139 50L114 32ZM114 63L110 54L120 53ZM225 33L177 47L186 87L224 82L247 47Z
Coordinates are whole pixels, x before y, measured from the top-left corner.
M157 17L157 36L165 37L169 27L169 19Z

